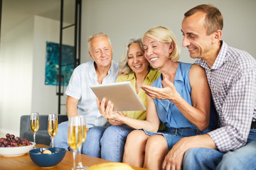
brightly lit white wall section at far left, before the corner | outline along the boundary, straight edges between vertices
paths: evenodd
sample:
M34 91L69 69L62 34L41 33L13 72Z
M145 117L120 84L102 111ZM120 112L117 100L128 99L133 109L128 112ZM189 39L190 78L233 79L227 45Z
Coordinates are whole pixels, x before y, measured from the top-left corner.
M31 112L33 18L1 37L0 129L18 135L21 115Z

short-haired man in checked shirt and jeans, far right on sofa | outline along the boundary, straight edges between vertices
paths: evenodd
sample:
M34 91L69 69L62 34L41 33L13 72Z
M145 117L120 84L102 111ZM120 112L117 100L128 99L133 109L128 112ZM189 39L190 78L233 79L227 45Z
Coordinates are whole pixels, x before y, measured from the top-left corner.
M181 169L183 162L183 169L255 169L256 61L221 40L223 16L218 8L200 5L184 16L183 47L206 70L219 128L181 139L163 168Z

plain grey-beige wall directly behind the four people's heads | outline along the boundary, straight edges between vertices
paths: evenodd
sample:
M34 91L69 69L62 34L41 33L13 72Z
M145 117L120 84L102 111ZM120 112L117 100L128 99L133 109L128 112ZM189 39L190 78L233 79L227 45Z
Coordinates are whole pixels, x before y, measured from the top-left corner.
M224 17L223 40L228 45L256 57L255 0L97 0L82 1L82 62L90 60L87 38L104 31L110 36L114 60L119 61L124 42L142 36L154 26L168 26L182 43L181 21L188 9L198 4L213 4ZM188 50L181 47L181 61L193 62Z

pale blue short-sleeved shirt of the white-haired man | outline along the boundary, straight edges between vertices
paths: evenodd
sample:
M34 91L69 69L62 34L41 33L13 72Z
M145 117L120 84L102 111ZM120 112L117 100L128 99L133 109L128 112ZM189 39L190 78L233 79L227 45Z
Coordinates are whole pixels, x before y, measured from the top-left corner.
M118 63L112 61L107 77L102 81L102 84L114 83L119 73ZM70 78L70 82L65 91L65 94L78 101L78 115L86 115L86 126L102 126L107 123L107 120L102 117L98 108L96 96L90 89L90 86L99 84L95 71L94 62L85 62L74 69Z

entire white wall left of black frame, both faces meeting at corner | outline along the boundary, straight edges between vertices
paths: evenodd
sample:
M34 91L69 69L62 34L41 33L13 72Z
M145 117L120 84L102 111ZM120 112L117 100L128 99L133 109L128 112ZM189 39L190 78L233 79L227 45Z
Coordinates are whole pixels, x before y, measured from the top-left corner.
M21 115L58 113L56 86L45 85L45 74L46 41L59 43L59 33L59 21L32 16L1 37L0 132L19 135ZM64 31L63 44L73 45L73 33Z

